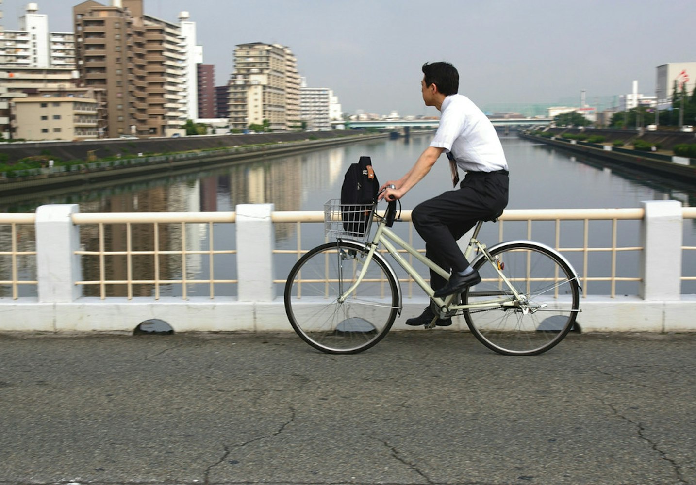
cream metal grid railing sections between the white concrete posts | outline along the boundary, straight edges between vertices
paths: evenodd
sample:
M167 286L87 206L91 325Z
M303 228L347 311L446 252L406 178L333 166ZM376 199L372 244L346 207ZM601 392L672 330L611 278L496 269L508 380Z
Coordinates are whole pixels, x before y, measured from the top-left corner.
M693 220L696 220L696 208L683 208L682 214L685 224L687 220L690 220L691 224ZM640 255L643 251L640 244L633 244L640 238L634 237L628 243L622 241L626 238L622 238L624 230L619 228L619 225L622 221L634 221L635 226L638 227L643 217L643 209L510 209L503 214L497 226L484 225L484 228L488 228L489 231L497 231L497 237L496 234L491 235L491 232L488 232L483 234L482 239L489 245L503 241L504 237L505 239L539 240L537 225L546 221L553 226L553 230L544 228L541 232L544 232L547 239L541 242L553 246L569 259L572 258L571 262L578 271L583 285L583 295L587 296L590 293L588 290L593 285L603 283L608 285L609 290L601 294L615 296L617 283L640 283L641 281L640 277L636 276L638 265L622 264L620 262L622 255L626 253ZM413 244L414 239L418 241L418 236L410 223L411 212L402 212L401 218L407 224L404 224L404 228L400 230L407 232L405 239ZM85 269L87 265L83 264L83 278L74 282L84 287L84 293L106 299L112 296L111 289L118 287L120 288L119 296L132 299L141 294L136 292L136 289L146 285L148 296L159 299L164 287L171 288L172 285L177 285L182 298L187 299L191 296L189 286L198 285L206 287L205 293L210 299L214 299L216 294L221 294L216 289L216 285L239 283L232 271L221 274L219 267L216 267L216 258L230 257L236 260L239 257L234 247L235 238L223 237L226 231L230 230L230 223L236 221L235 212L82 213L73 214L72 221L81 226L83 246L75 254L83 258L83 261L90 262L89 270ZM576 221L582 225L583 237L572 238L572 241L578 241L577 244L572 242L569 244L568 237L563 236L563 224L569 221ZM596 231L592 232L593 221L605 221L604 224L609 225L610 236L595 238ZM291 242L283 247L276 247L273 251L273 255L286 258L291 266L301 255L319 244L322 241L320 238L324 237L317 236L317 234L323 234L321 228L324 223L324 212L322 211L273 212L271 222L274 227L285 225L289 228L286 232L292 232ZM31 287L35 290L38 286L34 223L34 214L0 214L0 249L2 250L0 251L0 290L4 292L0 294L1 296L18 299L23 296L22 293L26 294L28 289L32 289ZM309 228L307 223L310 225ZM520 231L517 227L516 232L524 232L523 237L510 237L509 232L514 232L509 230L510 226L520 224L525 229ZM143 228L148 228L144 236ZM111 236L118 233L120 246L107 244L109 231ZM638 232L635 228L632 231ZM139 239L136 238L136 232L141 233ZM163 232L167 233L166 238L161 237ZM687 236L685 231L685 240L693 239ZM551 241L548 240L549 238ZM136 244L136 239L140 243L149 241L150 246ZM168 239L168 243L163 244L161 239ZM592 242L597 239L600 240L599 244ZM684 258L689 257L693 260L696 255L696 246L693 244L682 241L681 250ZM598 254L606 255L608 261L603 264L601 274L593 273L592 264L590 264L590 260ZM192 260L198 261L195 269L191 268ZM175 271L164 268L165 261L175 266ZM148 265L148 269L151 269L151 276L139 277L142 271L138 270L143 265ZM688 265L689 268L694 266L694 264ZM118 271L113 271L115 267ZM285 267L278 266L273 283L277 285L285 283L285 275L287 275L285 270ZM688 271L683 271L681 275L682 287L685 283L696 281L696 274L688 273ZM404 296L408 297L414 291L420 292L417 287L414 289L410 278L404 277L402 281L407 283L403 288Z

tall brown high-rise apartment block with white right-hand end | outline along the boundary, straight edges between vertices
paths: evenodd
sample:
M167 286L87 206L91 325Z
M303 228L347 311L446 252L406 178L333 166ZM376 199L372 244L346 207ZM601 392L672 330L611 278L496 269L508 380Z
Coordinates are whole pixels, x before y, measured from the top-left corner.
M169 136L197 115L191 58L198 61L200 48L187 13L180 25L145 15L143 0L90 0L73 14L80 77L106 93L104 136Z

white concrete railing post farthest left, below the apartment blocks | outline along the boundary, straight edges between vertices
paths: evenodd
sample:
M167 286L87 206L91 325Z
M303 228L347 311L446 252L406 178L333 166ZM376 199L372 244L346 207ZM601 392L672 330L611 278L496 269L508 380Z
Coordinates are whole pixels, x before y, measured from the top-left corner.
M36 276L40 303L66 303L78 299L82 279L80 231L72 223L77 204L42 205L36 209Z

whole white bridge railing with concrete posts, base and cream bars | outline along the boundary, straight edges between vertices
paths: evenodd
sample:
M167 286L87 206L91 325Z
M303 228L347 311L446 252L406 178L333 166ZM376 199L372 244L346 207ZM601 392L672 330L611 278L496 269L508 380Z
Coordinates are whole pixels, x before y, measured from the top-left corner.
M236 209L0 214L0 331L129 332L148 319L175 331L289 330L285 275L323 240L324 214ZM509 209L482 239L534 239L564 253L583 286L583 331L696 331L696 246L683 229L694 218L696 208L673 200ZM410 223L400 230L417 238ZM402 287L404 316L420 312L420 289L405 276Z

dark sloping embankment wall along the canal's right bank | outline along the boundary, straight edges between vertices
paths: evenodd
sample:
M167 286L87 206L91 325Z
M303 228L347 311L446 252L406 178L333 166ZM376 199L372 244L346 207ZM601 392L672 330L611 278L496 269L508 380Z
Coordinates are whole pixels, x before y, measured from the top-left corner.
M558 129L556 129L558 130ZM551 130L550 130L551 131ZM617 134L608 134L608 131L616 131ZM520 133L518 136L532 141L537 141L539 143L546 143L547 145L552 145L563 150L569 150L571 152L576 152L580 154L587 154L591 157L596 157L598 159L603 159L614 164L620 164L626 167L631 167L633 169L640 169L645 173L652 173L654 175L659 175L661 177L672 178L680 180L681 182L696 182L696 160L688 159L684 157L674 157L670 154L656 153L656 152L643 152L640 150L630 150L628 148L617 148L612 145L602 145L599 143L588 143L585 141L576 141L566 138L561 138L561 132L569 132L568 130L560 130L556 138L544 138L541 136L534 136L530 134ZM576 133L580 133L576 130ZM631 141L638 137L638 134L631 132L622 132L622 130L592 130L585 131L585 134L602 134L606 136L608 141L621 140L626 143L626 141ZM617 138L620 134L623 134L624 138ZM686 135L686 136L676 136L676 135ZM656 135L659 136L659 135ZM644 136L641 139L647 140ZM662 139L665 139L663 136ZM672 134L670 138L672 146L678 143L689 143L683 140L691 140L690 143L696 143L696 138L693 137L691 133L684 134ZM652 141L657 143L656 141ZM663 148L665 146L663 145Z

